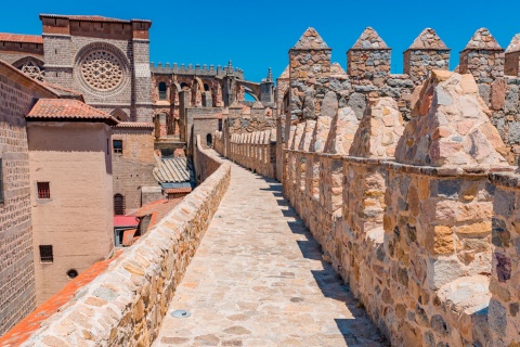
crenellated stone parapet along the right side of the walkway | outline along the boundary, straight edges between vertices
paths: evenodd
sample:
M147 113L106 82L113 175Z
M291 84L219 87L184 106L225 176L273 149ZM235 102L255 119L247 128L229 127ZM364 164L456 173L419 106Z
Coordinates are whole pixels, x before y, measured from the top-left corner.
M431 73L407 124L392 98L361 120L340 99L283 150L284 194L323 259L392 345L516 346L520 176L472 75ZM232 137L227 156L261 165L251 142Z

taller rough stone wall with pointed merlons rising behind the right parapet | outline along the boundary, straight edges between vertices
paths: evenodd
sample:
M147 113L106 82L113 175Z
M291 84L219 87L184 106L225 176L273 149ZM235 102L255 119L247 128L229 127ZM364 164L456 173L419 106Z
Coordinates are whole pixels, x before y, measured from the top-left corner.
M391 49L373 28L366 28L347 52L347 72L337 63L330 64L330 50L312 28L290 49L288 70L278 78L282 85L276 98L276 108L281 115L287 115L282 140L288 138L295 121L316 118L327 91L336 91L339 106L351 107L359 119L369 99L392 98L408 121L430 70L450 66L451 49L431 28L420 33L404 52L404 74L390 73ZM460 52L459 66L455 69L474 77L479 94L489 107L489 117L507 145L506 157L511 164L520 155L519 52L518 36L504 50L487 29L481 28ZM280 153L277 159L283 159Z

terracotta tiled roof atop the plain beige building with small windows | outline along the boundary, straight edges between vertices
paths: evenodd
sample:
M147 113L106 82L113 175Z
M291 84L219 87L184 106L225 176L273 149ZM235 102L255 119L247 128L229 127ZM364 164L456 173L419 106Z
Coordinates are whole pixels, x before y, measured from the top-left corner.
M108 124L119 121L103 111L74 99L40 99L26 116L27 119L96 119Z

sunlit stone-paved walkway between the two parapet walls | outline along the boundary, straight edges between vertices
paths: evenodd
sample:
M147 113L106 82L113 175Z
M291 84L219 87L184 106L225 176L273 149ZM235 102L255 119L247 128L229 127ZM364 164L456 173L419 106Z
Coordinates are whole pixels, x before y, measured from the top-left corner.
M281 190L233 165L153 346L386 345Z

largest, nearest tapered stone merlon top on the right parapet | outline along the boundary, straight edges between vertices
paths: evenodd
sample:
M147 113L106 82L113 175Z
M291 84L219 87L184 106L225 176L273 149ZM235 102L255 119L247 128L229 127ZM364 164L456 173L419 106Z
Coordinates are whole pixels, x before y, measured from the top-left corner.
M469 75L433 70L395 152L400 163L505 166L505 145ZM450 116L447 116L450 115ZM450 121L447 120L450 118Z

